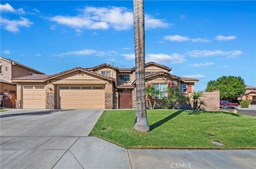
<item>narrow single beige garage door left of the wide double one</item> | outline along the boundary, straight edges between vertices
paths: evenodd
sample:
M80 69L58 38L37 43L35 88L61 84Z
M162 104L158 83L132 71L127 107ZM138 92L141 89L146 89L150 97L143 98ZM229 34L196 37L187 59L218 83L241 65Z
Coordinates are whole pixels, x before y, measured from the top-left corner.
M44 86L23 86L23 109L45 109Z

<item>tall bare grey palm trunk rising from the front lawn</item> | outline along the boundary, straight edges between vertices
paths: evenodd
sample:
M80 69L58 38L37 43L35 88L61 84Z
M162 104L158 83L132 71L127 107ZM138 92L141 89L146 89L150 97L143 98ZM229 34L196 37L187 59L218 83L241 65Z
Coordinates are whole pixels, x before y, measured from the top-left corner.
M145 26L144 1L133 0L135 77L136 77L136 117L134 129L149 131L146 113L145 91Z

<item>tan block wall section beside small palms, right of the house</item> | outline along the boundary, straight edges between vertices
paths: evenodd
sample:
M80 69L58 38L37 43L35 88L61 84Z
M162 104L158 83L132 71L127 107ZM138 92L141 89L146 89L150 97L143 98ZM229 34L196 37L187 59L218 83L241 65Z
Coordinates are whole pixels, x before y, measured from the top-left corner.
M201 98L206 103L202 106L202 110L206 111L219 111L220 110L220 91L214 90L213 92L203 92L204 96Z

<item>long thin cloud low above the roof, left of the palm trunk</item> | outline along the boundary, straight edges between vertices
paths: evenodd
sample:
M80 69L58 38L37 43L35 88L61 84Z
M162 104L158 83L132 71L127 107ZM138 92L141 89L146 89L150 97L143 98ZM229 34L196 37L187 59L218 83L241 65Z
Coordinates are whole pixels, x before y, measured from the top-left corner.
M118 52L116 51L97 51L97 50L91 50L91 49L84 49L81 51L71 51L71 52L64 52L60 54L56 54L58 57L63 57L63 56L74 56L74 55L80 55L80 56L86 56L86 55L96 55L98 57L104 57L106 55L116 55Z

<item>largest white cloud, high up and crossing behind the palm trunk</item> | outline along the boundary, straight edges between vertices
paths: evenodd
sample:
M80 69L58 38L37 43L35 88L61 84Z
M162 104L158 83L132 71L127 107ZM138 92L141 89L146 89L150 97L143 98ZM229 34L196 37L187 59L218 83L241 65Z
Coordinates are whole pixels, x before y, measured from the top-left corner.
M126 7L85 7L75 17L57 15L50 18L60 25L75 29L109 29L127 30L133 26L133 13ZM170 24L151 15L145 15L145 28L165 28Z

